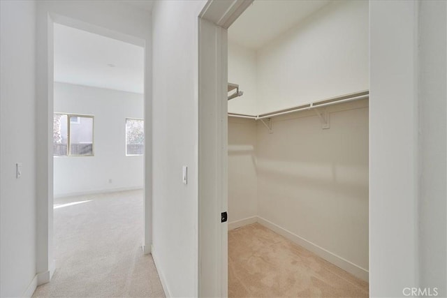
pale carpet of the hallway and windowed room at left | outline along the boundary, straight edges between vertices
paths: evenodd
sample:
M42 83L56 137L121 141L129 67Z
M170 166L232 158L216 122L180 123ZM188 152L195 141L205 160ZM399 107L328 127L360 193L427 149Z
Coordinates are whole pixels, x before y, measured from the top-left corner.
M141 251L142 198L123 191L54 200L56 271L33 297L165 297L152 256Z

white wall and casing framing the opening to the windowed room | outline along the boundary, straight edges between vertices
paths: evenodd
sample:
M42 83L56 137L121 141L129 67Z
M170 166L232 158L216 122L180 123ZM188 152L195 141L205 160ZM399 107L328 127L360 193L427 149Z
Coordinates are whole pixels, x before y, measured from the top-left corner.
M145 46L145 114L152 114L151 14L118 1L37 1L37 271L40 283L54 270L53 204L53 22ZM145 156L152 156L151 121L145 121ZM151 158L145 158L145 247L151 240ZM145 250L145 253L149 251Z

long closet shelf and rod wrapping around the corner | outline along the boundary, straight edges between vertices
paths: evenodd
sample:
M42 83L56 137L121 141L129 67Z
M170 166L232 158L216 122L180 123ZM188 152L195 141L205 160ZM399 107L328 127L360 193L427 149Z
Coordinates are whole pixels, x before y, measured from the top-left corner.
M349 101L353 100L360 100L369 98L369 90L360 91L352 94L345 94L342 96L336 96L332 98L328 98L325 100L318 100L314 101L312 103L307 103L305 105L297 105L295 107L289 107L287 109L283 110L277 110L270 113L265 114L258 114L258 115L248 115L248 114L237 114L237 113L228 113L228 117L238 117L238 118L247 118L247 119L255 119L255 120L261 120L266 118L272 118L284 114L290 114L294 112L300 112L303 110L312 110L316 107L326 107L328 105L336 105L338 103L348 103Z

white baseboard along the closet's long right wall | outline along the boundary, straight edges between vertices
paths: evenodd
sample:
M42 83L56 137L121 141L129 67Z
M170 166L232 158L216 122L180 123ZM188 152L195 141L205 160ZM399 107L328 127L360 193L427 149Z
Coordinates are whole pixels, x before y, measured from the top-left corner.
M306 248L308 251L312 251L312 253L315 253L319 257L327 260L328 262L331 262L333 265L340 267L345 271L348 271L350 274L353 274L353 276L356 276L362 279L363 281L368 281L369 272L367 271L367 269L364 269L356 264L353 264L352 262L349 262L349 260L345 260L339 255L335 255L335 253L331 253L330 251L325 250L324 248L312 243L311 241L307 241L306 239L296 234L293 234L292 232L284 228L281 228L279 225L276 225L260 216L257 216L257 221L258 223L265 226L266 228L269 228L273 232L277 232L278 234L280 234L283 237L286 237L295 244L298 244L299 246Z

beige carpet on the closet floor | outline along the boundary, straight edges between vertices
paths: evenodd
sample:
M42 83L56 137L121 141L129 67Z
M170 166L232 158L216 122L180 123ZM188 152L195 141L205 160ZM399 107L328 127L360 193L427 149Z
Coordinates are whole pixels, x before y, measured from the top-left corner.
M258 223L228 232L229 297L368 297L368 283Z

